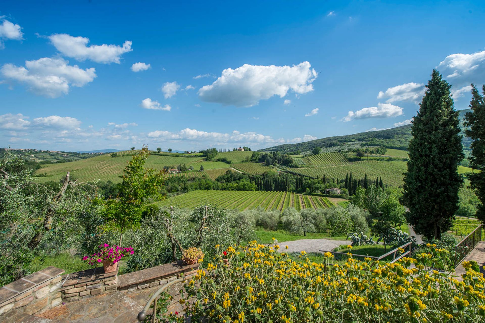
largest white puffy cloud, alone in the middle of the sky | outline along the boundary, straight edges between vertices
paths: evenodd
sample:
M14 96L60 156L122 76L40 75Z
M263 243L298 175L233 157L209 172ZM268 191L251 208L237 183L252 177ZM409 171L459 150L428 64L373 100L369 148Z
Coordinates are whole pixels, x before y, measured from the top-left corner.
M275 95L285 97L290 90L305 94L313 91L311 83L317 78L317 72L310 67L310 63L302 62L293 66L244 64L227 68L198 94L203 101L237 107L250 107Z

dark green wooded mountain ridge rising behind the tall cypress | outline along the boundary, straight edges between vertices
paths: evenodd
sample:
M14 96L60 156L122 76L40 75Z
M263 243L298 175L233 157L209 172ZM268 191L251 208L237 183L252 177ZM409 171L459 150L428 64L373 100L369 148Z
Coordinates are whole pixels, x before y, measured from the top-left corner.
M465 118L465 113L470 112L471 109L459 110L459 118L460 118L460 128L462 129L463 135L463 148L464 150L469 150L469 146L471 141L469 138L465 137L463 132L464 125L463 121ZM411 126L412 125L405 125L397 128L385 129L385 130L377 130L377 131L368 131L368 132L359 132L356 134L349 134L344 136L334 136L334 137L326 137L322 139L311 140L303 143L298 144L284 144L284 145L277 145L268 148L259 149L259 151L279 151L281 153L289 153L295 151L307 151L311 150L315 147L333 147L342 145L344 143L350 142L362 142L364 146L383 146L386 148L393 148L393 149L402 149L407 150L409 145L409 141L411 140Z

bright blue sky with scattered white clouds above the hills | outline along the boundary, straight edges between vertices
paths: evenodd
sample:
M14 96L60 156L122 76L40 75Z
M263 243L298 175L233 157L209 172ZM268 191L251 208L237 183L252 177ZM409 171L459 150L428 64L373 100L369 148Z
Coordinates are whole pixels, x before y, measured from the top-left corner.
M0 17L2 147L258 149L409 123L435 67L457 109L485 82L483 1L3 1Z

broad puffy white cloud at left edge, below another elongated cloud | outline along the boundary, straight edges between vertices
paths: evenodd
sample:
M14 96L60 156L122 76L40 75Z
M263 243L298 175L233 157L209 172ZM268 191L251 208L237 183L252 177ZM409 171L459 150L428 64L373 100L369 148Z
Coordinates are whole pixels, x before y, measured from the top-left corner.
M94 67L82 69L68 64L62 58L44 57L25 61L25 67L4 64L0 73L7 80L26 84L36 94L59 97L69 92L69 86L82 87L96 78Z

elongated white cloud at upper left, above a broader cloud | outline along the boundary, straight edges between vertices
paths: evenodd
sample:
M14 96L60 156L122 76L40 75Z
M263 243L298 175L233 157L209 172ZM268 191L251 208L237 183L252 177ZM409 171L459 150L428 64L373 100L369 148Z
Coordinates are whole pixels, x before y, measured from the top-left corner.
M73 37L66 33L55 33L48 38L63 55L73 57L78 61L89 59L97 63L120 64L121 55L132 50L129 40L125 41L123 46L106 44L87 46L89 38L86 37Z

